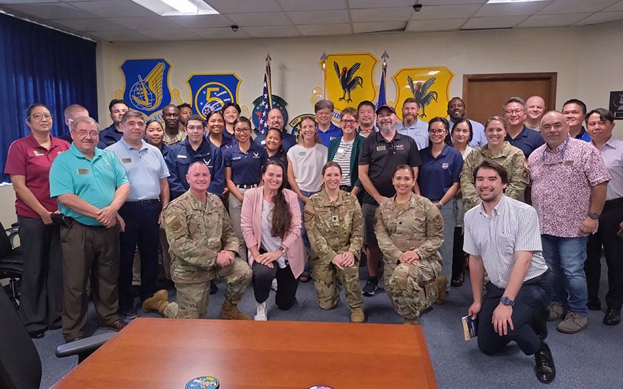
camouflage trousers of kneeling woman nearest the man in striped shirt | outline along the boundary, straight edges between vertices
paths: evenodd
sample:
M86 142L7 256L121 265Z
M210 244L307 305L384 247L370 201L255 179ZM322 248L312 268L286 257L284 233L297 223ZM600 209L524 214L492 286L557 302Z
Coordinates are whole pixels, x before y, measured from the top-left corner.
M438 261L418 261L414 264L392 264L385 260L383 284L396 313L413 320L433 305L437 298L435 278L442 264Z

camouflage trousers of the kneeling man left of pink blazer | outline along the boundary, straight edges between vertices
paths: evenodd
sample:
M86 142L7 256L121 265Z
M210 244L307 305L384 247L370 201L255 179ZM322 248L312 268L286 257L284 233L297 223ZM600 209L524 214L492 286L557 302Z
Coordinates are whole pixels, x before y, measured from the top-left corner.
M227 289L225 299L233 304L240 303L240 299L246 292L246 288L251 284L253 273L248 264L236 257L232 264L225 267L216 266L214 279L225 279ZM207 314L209 303L209 284L210 280L194 282L191 284L175 283L177 289L177 304L179 308L169 304L164 310L164 316L168 318L204 318Z

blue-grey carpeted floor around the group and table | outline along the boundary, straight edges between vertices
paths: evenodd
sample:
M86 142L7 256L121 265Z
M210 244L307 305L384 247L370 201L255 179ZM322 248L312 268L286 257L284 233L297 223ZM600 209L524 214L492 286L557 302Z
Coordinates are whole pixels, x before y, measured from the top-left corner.
M366 271L361 268L362 280L367 277L364 273ZM209 318L218 318L220 306L223 303L224 285L219 284L219 287L218 294L211 296ZM605 290L605 287L603 285L602 290ZM170 294L175 299L175 290L170 290ZM294 305L294 308L288 312L281 312L275 307L271 294L271 299L268 300L268 319L348 321L350 310L344 301L343 294L338 307L331 311L318 308L312 282L300 284L296 297L298 303ZM467 342L463 340L461 316L467 314L471 303L471 288L469 279L466 279L466 283L461 288L452 289L445 305L435 305L420 318L440 388L512 389L537 386L565 389L623 388L623 374L621 373L623 325L615 327L603 325L602 312L591 311L589 327L575 335L561 334L555 329L556 323L549 323L550 333L547 342L552 349L557 377L552 384L545 386L537 381L533 373L533 358L523 355L515 344L509 344L507 349L499 355L487 356L480 353L475 339ZM247 314L255 313L253 290L249 289L246 292L240 308ZM382 289L374 297L364 297L364 309L369 323L394 323L396 325L402 323ZM156 317L157 315L140 312L140 316ZM99 334L101 330L97 329L97 321L91 305L88 334L92 332ZM62 360L55 357L55 348L62 342L60 329L49 331L44 338L35 340L43 365L41 388L49 388L77 364L77 357ZM301 342L301 347L305 347L305 342ZM373 364L374 358L366 361L353 361L353 368L369 368ZM383 366L377 366L377 368L383 368Z

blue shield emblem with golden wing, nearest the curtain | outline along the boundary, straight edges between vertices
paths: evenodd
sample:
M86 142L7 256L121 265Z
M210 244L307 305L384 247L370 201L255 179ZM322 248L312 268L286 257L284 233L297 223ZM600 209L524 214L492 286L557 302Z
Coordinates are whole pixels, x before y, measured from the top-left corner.
M168 88L170 64L162 58L127 60L121 65L125 77L123 99L130 108L151 116L171 102Z

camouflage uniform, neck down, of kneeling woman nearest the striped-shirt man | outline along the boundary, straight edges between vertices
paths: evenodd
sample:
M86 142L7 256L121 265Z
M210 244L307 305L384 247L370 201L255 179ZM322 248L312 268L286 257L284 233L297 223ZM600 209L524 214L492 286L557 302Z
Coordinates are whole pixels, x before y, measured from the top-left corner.
M422 311L433 305L448 280L439 276L444 221L439 209L424 197L397 205L395 197L379 205L374 233L383 253L383 284L405 324L417 324Z

